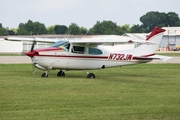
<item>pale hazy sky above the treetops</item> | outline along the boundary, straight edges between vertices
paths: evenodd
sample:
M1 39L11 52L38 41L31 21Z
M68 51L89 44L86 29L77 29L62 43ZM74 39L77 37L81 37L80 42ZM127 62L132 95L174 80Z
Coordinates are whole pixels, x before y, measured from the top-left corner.
M92 28L97 21L117 25L142 24L140 17L150 11L175 12L180 17L179 0L0 0L0 23L18 28L28 20L46 27L76 23Z

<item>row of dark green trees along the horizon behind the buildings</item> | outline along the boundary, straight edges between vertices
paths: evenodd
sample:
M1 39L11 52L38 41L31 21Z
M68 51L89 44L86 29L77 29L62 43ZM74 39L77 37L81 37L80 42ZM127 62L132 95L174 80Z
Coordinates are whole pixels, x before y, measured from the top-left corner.
M113 21L97 21L95 25L87 29L79 27L76 23L66 25L53 25L46 28L43 23L28 20L27 23L20 23L16 29L4 28L0 23L0 36L5 35L41 35L41 34L71 34L71 35L122 35L124 33L148 33L154 27L180 26L180 18L175 12L151 11L140 17L142 24L117 25Z

